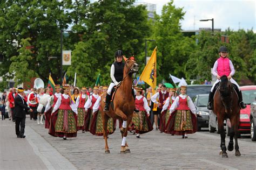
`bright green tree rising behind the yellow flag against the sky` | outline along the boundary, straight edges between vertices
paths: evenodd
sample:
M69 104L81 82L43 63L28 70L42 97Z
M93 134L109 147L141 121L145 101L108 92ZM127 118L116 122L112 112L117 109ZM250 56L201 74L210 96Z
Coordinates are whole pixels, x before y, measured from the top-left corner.
M181 32L180 21L185 12L183 8L177 8L173 1L163 6L161 16L156 15L153 23L151 39L156 40L157 53L157 81L169 80L169 73L178 77L184 77L185 61L193 52L195 41L184 37ZM151 43L153 50L155 44Z

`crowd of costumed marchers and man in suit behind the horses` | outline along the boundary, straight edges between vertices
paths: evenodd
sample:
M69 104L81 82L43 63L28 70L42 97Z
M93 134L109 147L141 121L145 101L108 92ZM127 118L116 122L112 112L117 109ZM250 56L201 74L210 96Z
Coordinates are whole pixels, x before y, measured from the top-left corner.
M103 122L100 114L100 101L102 95L107 93L108 86L87 88L70 87L69 84L55 86L55 94L47 88L30 89L11 88L9 94L4 92L2 96L2 119L4 120L5 107L8 106L9 120L16 122L16 134L24 138L25 117L29 115L30 120L37 121L38 125L44 125L49 129L49 134L55 137L62 137L64 140L69 137L76 137L77 131L82 133L90 132L93 135L103 136ZM195 132L193 129L194 106L191 98L185 95L185 87L181 87L181 96L176 96L175 88L166 88L164 84L158 84L156 93L152 88L146 90L134 87L135 104L132 122L129 131L140 138L140 134L153 130L160 133L181 134L187 138L187 133ZM178 105L182 101L183 106ZM179 102L181 103L181 102ZM177 111L179 118L170 116L174 110L185 109L184 112ZM18 112L22 112L19 115ZM19 115L19 116L18 116ZM174 116L175 117L175 116ZM109 119L107 124L108 134L116 130L118 120ZM179 121L179 122L178 122ZM177 124L172 126L172 122ZM187 123L186 123L187 122ZM183 124L184 126L180 126ZM119 127L122 121L119 120ZM20 126L20 128L19 128Z

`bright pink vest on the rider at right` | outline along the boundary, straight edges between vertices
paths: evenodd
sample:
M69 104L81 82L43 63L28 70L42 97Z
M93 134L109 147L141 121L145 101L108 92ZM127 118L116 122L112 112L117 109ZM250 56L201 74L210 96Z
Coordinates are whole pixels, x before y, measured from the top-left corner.
M217 67L218 75L219 76L223 76L223 75L229 76L231 73L230 59L220 57L217 61L218 61L218 67Z

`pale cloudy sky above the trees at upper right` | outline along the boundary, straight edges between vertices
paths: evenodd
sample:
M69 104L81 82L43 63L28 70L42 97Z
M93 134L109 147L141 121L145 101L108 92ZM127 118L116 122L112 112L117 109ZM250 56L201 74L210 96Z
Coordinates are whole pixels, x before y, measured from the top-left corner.
M137 0L157 5L157 14L161 15L163 5L168 0ZM181 29L198 30L199 27L212 27L211 20L200 22L200 19L214 18L214 29L225 31L239 29L251 30L256 33L256 1L255 0L174 0L177 8L186 11Z

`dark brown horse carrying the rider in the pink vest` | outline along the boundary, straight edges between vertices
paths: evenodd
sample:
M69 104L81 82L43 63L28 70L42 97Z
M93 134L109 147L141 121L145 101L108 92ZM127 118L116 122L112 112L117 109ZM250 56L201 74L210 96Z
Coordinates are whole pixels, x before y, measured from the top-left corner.
M220 86L218 87L213 102L213 112L218 119L218 128L220 130L220 154L223 158L228 158L227 152L233 151L235 139L235 155L241 155L238 146L238 127L240 122L240 106L238 101L238 95L232 87L232 83L227 79L227 76L221 76ZM230 131L230 142L228 147L225 145L225 131L224 131L224 119L230 119L231 131Z

